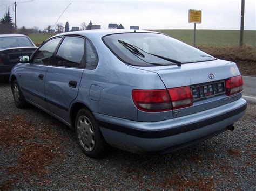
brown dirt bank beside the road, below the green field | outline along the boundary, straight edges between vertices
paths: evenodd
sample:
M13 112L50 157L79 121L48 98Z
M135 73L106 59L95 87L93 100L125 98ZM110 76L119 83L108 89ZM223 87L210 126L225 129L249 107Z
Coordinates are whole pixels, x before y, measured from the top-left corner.
M237 63L242 75L256 75L256 48L251 46L198 46L215 58L228 60Z

